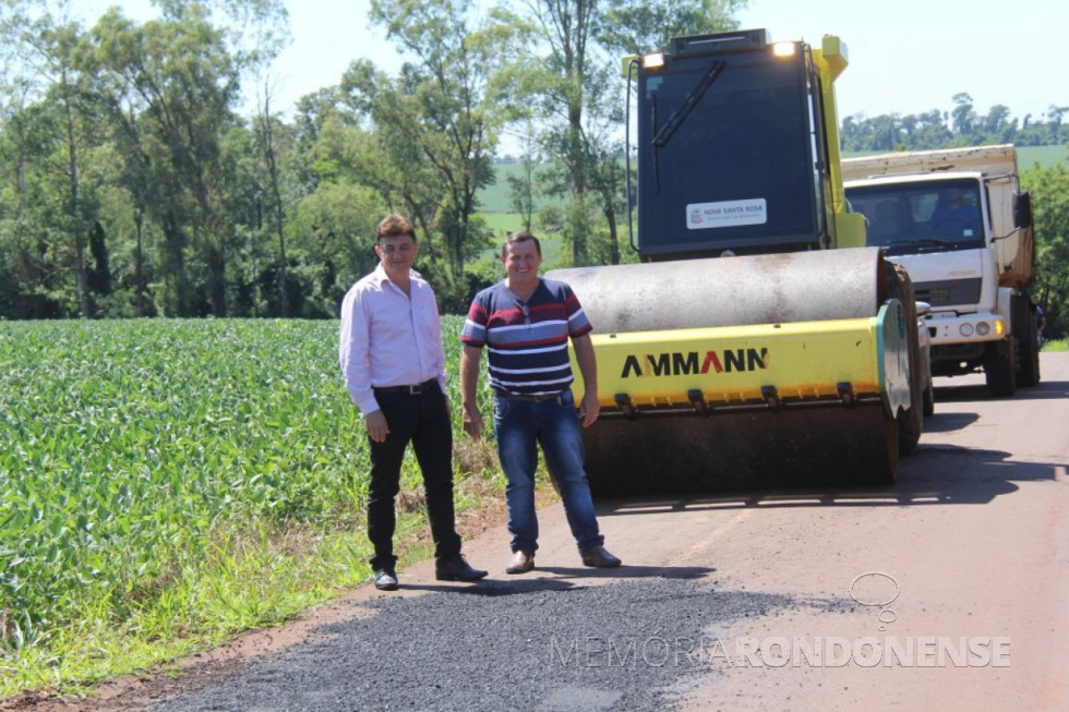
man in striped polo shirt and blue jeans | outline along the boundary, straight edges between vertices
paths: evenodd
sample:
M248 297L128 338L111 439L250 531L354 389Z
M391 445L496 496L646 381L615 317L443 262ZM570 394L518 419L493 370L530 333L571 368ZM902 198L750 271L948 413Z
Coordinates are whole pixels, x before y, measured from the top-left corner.
M570 287L539 277L542 250L533 234L511 234L501 262L505 279L476 294L468 310L460 335L460 393L464 430L471 437L479 437L483 422L476 386L482 349L487 347L497 455L508 481L505 500L513 557L505 571L524 574L534 568L538 445L561 491L582 564L598 568L620 566L620 559L603 545L582 462L579 423L584 427L592 425L599 411L598 369L590 343L592 326ZM568 338L585 388L578 414L570 389L574 378Z

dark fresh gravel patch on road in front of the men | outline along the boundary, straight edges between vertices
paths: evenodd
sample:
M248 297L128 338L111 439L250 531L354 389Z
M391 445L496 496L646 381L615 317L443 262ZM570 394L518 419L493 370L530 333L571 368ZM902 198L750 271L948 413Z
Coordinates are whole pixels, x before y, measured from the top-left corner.
M374 615L155 709L665 710L714 674L717 630L794 604L704 579L442 587L365 602Z

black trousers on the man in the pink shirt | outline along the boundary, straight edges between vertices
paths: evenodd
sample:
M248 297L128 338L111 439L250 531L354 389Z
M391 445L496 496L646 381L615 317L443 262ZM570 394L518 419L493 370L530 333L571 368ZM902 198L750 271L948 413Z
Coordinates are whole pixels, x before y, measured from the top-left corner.
M394 556L394 498L400 490L405 448L412 444L423 475L427 518L434 538L434 555L448 558L460 553L453 511L453 424L441 388L419 395L375 393L386 417L389 435L385 443L371 444L371 485L368 496L368 538L375 547L371 567L392 568Z

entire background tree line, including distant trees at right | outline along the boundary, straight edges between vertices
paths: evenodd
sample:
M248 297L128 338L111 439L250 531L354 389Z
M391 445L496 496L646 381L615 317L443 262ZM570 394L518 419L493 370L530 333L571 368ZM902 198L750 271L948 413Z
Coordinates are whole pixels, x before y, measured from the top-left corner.
M89 26L62 0L0 2L0 318L333 318L391 212L417 227L443 310L497 278L479 195L506 134L523 146L517 228L552 225L570 264L634 258L620 58L737 28L744 0L372 0L399 72L355 60L288 118L272 96L281 0L156 0L155 20L111 9ZM844 148L1069 138L1066 109L1018 126L954 101L848 117ZM1052 244L1064 214L1046 212Z

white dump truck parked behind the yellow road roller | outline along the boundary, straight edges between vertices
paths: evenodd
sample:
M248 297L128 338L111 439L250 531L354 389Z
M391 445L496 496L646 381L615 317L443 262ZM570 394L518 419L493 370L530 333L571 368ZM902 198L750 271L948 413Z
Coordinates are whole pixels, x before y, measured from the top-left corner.
M1032 202L1012 145L916 150L843 160L866 242L913 278L928 303L932 372L983 371L995 396L1040 382Z

